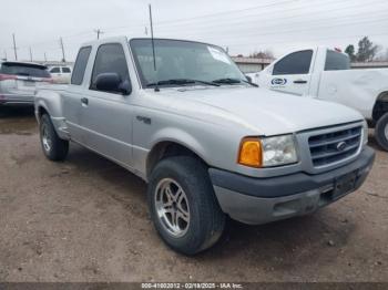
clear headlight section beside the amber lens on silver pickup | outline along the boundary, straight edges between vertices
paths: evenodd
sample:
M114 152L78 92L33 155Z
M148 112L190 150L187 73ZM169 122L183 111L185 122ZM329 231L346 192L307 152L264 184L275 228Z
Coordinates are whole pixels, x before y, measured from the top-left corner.
M278 166L298 160L293 135L262 138L263 166Z

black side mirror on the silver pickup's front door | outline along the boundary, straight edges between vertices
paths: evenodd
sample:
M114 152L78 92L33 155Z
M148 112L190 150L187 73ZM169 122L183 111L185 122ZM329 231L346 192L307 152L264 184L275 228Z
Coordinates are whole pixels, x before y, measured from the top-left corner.
M99 91L129 95L132 92L130 80L122 81L118 73L100 73L95 79Z

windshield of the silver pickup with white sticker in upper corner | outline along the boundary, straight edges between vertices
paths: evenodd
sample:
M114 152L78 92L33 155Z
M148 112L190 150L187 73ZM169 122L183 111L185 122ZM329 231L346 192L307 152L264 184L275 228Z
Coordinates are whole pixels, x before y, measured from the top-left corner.
M156 72L151 39L133 39L130 45L143 86L238 84L246 77L219 48L191 41L155 39Z

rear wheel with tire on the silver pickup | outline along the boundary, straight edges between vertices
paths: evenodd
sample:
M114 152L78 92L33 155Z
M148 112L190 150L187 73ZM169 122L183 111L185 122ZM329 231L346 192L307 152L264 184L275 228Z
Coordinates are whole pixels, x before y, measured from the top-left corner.
M53 162L64 160L69 152L69 141L58 136L48 114L40 118L39 132L44 156Z

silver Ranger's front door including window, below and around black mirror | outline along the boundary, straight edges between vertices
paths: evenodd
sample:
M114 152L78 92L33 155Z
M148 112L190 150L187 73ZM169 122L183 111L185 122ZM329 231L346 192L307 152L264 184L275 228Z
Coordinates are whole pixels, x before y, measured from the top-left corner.
M130 96L100 91L95 81L101 73L116 73L122 81L130 81L121 43L101 44L96 51L90 87L81 99L82 143L119 164L131 166L133 107Z

